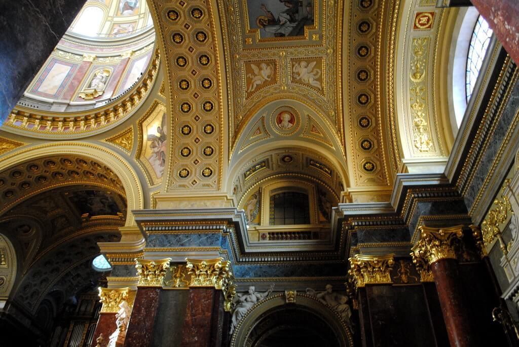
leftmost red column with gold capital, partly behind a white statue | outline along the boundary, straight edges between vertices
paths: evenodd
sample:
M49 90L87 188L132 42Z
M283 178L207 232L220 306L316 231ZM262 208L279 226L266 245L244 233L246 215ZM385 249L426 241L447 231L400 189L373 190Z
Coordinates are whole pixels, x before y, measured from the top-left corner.
M117 329L117 312L122 301L126 301L131 307L135 292L130 288L99 288L99 298L102 302L101 312L99 313L98 324L95 327L92 343L90 347L97 345L96 340L103 335L103 340L100 343L101 347L108 345L110 335Z

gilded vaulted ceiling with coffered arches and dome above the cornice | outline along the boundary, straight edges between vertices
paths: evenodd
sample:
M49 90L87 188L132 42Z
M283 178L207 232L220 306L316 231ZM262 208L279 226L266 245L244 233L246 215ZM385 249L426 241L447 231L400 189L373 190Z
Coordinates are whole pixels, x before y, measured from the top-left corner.
M0 232L24 274L7 293L35 311L89 287L132 210L238 207L254 242L313 242L338 203L437 170L457 10L434 5L88 0L0 128ZM310 204L292 235L286 187Z

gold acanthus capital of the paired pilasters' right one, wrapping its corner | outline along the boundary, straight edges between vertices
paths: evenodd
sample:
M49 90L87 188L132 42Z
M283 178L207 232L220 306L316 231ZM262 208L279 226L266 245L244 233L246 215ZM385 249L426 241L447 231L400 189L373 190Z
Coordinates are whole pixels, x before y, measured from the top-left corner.
M224 309L230 311L236 295L234 275L230 261L216 259L186 259L186 269L191 275L189 287L214 287L221 289L225 298Z

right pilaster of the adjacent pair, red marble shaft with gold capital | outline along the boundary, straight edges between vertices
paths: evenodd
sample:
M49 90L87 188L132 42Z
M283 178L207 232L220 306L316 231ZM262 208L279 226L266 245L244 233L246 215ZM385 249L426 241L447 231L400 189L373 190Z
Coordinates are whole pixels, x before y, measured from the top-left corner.
M230 302L236 293L230 262L187 259L189 299L186 307L181 346L212 347L227 341Z

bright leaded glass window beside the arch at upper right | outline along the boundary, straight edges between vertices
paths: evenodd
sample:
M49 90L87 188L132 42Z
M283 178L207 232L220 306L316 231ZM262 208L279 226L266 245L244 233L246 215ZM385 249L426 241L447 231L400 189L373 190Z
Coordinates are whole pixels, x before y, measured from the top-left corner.
M467 57L467 102L470 100L474 85L476 84L477 75L480 74L481 64L485 58L488 49L488 43L492 36L492 29L488 26L487 21L479 16L472 32L470 40L469 54Z

